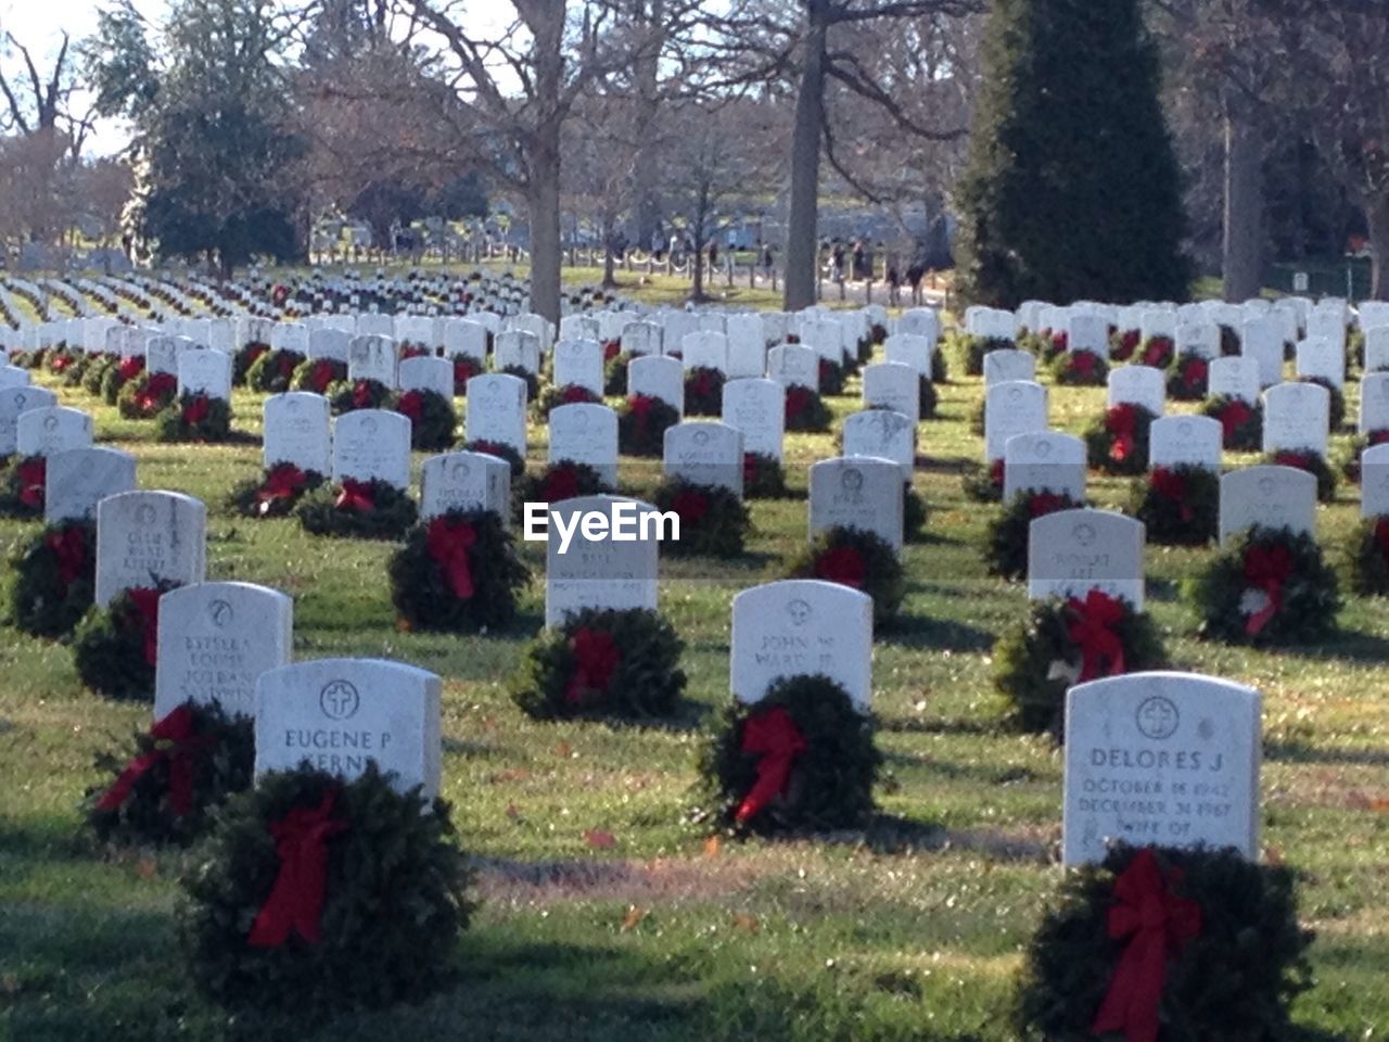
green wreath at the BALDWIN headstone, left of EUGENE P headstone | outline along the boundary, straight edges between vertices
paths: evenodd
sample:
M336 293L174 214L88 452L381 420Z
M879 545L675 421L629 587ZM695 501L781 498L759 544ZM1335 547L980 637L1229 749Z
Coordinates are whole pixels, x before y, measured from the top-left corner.
M188 843L207 828L208 811L251 786L256 722L250 717L228 716L221 706L189 703L179 710L175 713L189 724L186 736L174 741L161 734L174 722L169 714L153 729L138 731L129 750L96 756L96 770L108 777L88 789L82 810L101 842L121 846ZM178 759L183 760L178 768L188 772L192 797L182 813L171 788ZM136 771L132 784L125 785L122 775L128 768Z

